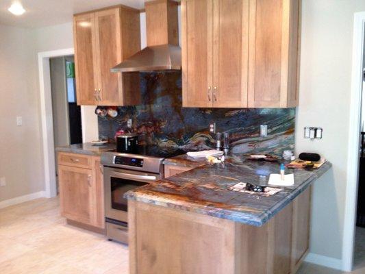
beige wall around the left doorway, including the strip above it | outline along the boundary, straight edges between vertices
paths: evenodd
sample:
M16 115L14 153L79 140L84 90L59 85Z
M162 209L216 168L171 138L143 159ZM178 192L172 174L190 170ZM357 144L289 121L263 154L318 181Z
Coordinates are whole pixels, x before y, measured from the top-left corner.
M0 202L45 190L38 52L73 48L72 23L23 29L0 25ZM86 141L97 138L95 106L84 107ZM23 126L16 126L23 116Z

